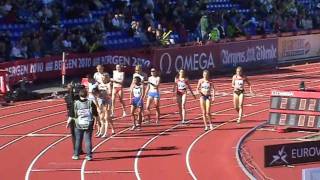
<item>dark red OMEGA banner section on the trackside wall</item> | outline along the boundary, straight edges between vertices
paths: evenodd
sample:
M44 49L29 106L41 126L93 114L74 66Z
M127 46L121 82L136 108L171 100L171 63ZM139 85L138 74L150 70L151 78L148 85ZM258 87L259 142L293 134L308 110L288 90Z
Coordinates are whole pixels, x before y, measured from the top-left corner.
M216 65L216 45L186 46L154 50L154 66L163 75L175 75L180 69L189 73L204 69L213 70Z

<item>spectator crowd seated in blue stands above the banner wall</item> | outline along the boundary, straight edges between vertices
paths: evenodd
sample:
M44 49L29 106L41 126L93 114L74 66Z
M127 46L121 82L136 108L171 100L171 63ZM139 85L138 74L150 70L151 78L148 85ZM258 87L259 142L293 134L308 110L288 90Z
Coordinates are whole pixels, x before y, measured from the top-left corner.
M217 1L2 0L0 26L28 26L0 27L0 62L57 55L63 51L108 50L104 43L109 38L107 32L123 32L142 46L159 46L320 27L317 1L310 1L306 6L298 0L225 0L248 9L245 13L239 8L210 10L208 4L212 2ZM65 23L72 19L89 21ZM14 36L15 31L21 35Z

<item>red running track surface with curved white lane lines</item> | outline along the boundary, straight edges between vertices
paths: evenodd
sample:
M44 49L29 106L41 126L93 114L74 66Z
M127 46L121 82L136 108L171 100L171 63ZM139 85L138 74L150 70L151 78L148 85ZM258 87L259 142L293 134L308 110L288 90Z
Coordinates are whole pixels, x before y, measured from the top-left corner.
M199 100L188 96L189 123L181 125L170 93L172 84L163 84L160 124L152 122L141 131L130 131L130 117L116 118L115 136L93 138L94 161L90 162L83 157L71 160L63 100L0 108L0 158L9 162L2 163L0 179L247 179L236 161L235 146L244 133L267 119L270 90L296 89L301 80L316 87L319 72L319 64L310 64L250 76L256 95L246 97L240 125L234 122L237 114L232 108L231 77L213 79L217 90L212 107L215 128L207 132ZM192 81L193 89L196 83ZM116 114L120 112L117 109ZM263 156L256 158L263 161ZM299 179L292 173L287 177Z

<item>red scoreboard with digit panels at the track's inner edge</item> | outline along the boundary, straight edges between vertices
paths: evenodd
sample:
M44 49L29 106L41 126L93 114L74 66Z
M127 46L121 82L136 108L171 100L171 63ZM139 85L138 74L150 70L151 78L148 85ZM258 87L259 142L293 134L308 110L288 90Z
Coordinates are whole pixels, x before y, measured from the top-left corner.
M268 124L320 128L320 91L271 91Z

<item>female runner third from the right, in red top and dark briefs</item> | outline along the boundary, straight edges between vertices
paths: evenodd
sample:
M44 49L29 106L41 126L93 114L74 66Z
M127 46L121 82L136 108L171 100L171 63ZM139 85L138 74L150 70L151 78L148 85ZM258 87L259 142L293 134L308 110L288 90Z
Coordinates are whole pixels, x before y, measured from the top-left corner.
M179 115L181 119L181 123L186 123L186 101L187 101L187 88L190 90L192 96L196 99L191 86L189 84L188 79L186 78L185 71L181 69L179 74L174 80L173 92L176 92L177 103L179 108Z

